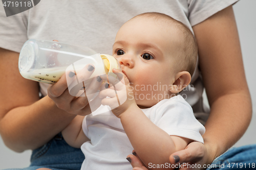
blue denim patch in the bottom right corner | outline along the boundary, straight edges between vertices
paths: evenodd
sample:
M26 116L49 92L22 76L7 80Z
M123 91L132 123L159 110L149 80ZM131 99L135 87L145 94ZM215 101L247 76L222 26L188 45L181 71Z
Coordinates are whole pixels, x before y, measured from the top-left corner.
M216 158L210 169L255 169L256 170L256 144L232 148Z

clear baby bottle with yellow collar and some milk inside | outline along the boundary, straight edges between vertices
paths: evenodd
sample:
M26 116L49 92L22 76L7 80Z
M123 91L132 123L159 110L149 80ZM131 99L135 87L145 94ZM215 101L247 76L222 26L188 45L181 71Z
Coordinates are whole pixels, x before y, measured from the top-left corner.
M113 68L121 70L114 57L89 47L38 39L26 41L18 59L24 78L48 84L56 83L67 69L77 73L87 64L95 67L90 78L109 74Z

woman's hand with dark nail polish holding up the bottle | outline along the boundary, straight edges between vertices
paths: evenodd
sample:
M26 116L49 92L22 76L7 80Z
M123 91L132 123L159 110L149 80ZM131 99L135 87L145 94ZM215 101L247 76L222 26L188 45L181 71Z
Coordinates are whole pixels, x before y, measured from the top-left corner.
M80 78L79 80L88 80L90 76L93 74L94 69L95 67L93 65L88 64L84 66L84 68L81 69L76 76L75 73L72 71L68 73L68 76L70 77L70 79L73 79L74 81L76 81L76 77L78 77L78 79ZM97 92L101 83L102 79L99 76L97 78L93 78L90 85L86 88L86 92L88 94L93 94ZM77 87L75 86L74 88L72 88L72 90L69 91L66 74L63 74L59 81L48 87L48 96L55 102L58 108L65 110L68 113L83 116L88 115L94 110L91 110L90 106L88 105L89 102L86 92L84 91L78 97L70 94L77 94L78 91L81 90L80 87ZM94 105L94 108L98 108L101 104L101 100L102 99L96 96L92 101L90 101L90 104Z

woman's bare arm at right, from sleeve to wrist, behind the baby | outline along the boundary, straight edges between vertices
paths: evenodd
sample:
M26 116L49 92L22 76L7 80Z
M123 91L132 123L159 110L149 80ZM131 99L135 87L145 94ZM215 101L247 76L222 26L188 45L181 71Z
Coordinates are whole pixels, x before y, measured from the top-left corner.
M211 108L203 135L210 163L244 134L252 114L232 6L193 27Z

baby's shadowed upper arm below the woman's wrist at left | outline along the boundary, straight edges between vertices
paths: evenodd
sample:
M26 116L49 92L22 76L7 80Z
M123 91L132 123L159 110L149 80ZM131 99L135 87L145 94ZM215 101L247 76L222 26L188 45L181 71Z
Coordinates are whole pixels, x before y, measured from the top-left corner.
M82 130L82 120L84 116L77 115L72 122L61 132L65 141L74 148L80 148L81 145L90 140Z

